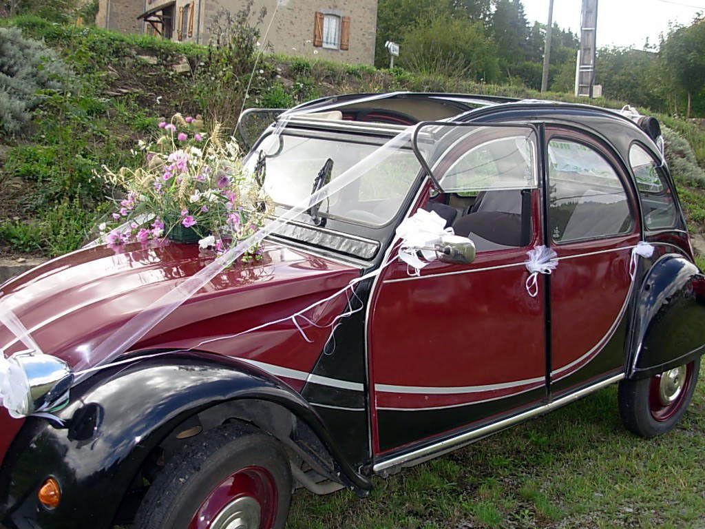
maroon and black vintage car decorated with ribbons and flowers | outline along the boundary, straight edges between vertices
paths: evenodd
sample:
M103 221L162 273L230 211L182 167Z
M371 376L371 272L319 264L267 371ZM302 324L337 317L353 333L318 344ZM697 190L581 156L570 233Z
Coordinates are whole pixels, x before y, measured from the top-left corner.
M414 93L298 110L252 145L276 215L366 157L374 170L271 233L262 262L223 269L120 363L82 372L54 418L0 409L6 528L282 528L296 487L364 496L374 475L609 384L635 434L685 413L703 276L653 118ZM420 211L448 237L415 248L415 268L396 258L396 230ZM532 272L537 248L550 257ZM1 290L44 351L85 370L97 343L213 258L98 246ZM0 346L22 348L1 325Z

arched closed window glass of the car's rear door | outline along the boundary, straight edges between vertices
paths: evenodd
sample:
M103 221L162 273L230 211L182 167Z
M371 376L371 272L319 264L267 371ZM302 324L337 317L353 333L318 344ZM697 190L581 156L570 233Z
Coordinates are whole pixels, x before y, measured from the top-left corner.
M548 220L553 241L629 233L632 213L619 176L583 143L548 142Z

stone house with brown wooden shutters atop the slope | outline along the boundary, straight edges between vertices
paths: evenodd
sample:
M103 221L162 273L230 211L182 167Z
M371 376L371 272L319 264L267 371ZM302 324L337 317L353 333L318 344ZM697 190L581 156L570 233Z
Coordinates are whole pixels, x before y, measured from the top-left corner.
M236 13L248 0L99 0L96 24L110 30L208 44L216 13ZM277 6L279 4L279 6ZM343 63L374 63L377 0L254 0L252 23L275 53ZM276 13L275 13L276 11ZM272 21L272 16L274 20Z

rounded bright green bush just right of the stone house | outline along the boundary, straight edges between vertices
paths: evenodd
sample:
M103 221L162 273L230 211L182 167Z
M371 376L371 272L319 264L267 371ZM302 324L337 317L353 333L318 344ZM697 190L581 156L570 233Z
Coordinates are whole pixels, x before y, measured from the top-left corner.
M470 78L492 82L498 78L496 47L484 26L467 18L435 14L407 29L399 64L425 75Z

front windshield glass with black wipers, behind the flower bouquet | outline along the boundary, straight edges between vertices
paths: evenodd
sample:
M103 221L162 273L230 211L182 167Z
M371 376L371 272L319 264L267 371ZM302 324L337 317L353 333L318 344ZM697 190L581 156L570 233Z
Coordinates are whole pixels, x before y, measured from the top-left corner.
M278 207L293 207L312 193L314 181L328 159L333 162L334 180L387 141L362 135L311 137L286 132L279 145L262 150L266 156L264 190ZM264 138L259 145L266 145ZM255 152L259 149L255 147ZM257 156L250 157L247 169L255 170ZM392 152L378 166L321 202L318 215L379 227L391 221L409 194L420 165L411 146Z

